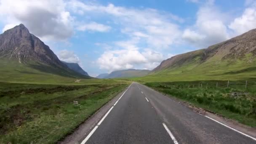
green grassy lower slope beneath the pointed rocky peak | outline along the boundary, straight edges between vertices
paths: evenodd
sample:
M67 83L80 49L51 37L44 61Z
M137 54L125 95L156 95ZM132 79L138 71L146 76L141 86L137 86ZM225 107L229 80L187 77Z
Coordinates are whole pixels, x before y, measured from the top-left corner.
M0 81L12 83L74 83L88 79L72 71L57 69L44 64L20 64L16 60L0 59Z

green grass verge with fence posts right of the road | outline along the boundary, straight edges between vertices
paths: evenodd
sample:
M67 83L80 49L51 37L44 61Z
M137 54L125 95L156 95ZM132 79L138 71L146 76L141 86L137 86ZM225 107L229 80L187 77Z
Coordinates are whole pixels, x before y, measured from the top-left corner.
M203 87L200 87L203 83ZM208 88L206 88L208 83ZM227 88L227 81L193 81L170 83L145 83L145 85L188 101L196 107L215 112L223 117L237 120L245 125L256 127L256 91L251 86L245 90L243 83ZM240 83L241 85L238 85ZM256 85L254 85L256 86Z

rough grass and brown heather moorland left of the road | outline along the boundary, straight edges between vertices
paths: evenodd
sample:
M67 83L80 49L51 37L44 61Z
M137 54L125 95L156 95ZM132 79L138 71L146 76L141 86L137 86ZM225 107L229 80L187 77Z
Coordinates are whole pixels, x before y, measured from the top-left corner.
M36 85L0 83L0 143L56 143L128 83ZM74 106L78 101L79 106Z

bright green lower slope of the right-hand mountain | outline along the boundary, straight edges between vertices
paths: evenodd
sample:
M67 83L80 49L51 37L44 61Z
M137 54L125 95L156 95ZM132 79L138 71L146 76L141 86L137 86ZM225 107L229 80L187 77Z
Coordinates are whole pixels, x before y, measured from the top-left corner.
M180 67L171 67L145 77L132 78L144 82L170 82L195 80L250 80L256 78L256 59L247 55L237 61L219 61L212 58L203 64L198 64L199 58L187 62ZM251 60L251 63L248 61Z

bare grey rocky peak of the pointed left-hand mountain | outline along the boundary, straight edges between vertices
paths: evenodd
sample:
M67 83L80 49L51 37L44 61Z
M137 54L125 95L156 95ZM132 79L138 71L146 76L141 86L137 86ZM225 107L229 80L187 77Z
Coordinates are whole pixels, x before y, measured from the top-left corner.
M29 33L24 24L19 24L0 35L0 58L16 59L67 67L38 37Z

